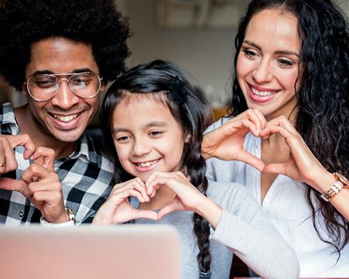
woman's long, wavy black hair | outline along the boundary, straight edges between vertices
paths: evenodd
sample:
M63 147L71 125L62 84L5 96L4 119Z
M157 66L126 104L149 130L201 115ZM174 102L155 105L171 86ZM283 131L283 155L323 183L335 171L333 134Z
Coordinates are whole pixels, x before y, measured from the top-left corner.
M235 70L248 23L253 15L267 9L291 13L298 19L302 43L299 65L302 64L303 69L299 75L304 82L296 94L295 128L329 172L341 172L348 177L349 37L346 19L330 0L253 0L239 22ZM236 71L232 86L230 116L236 116L248 108ZM306 199L319 238L334 246L340 254L349 239L348 220L332 204L321 199L311 186L306 187ZM321 234L319 215L325 219L327 236Z

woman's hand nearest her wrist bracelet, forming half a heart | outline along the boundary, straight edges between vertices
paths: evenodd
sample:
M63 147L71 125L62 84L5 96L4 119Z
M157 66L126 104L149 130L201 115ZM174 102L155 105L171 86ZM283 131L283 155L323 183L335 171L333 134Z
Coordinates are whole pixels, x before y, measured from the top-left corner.
M260 137L266 139L273 133L279 133L290 147L291 156L286 163L266 165L263 174L283 174L295 181L304 182L318 190L326 192L334 184L334 176L311 153L295 127L285 116L269 121Z

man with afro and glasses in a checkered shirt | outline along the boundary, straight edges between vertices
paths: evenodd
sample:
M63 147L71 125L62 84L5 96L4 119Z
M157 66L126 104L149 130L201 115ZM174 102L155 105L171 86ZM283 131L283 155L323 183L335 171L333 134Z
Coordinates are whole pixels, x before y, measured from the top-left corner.
M105 202L111 167L84 130L128 37L113 0L0 1L1 75L28 100L0 106L1 223L88 223Z

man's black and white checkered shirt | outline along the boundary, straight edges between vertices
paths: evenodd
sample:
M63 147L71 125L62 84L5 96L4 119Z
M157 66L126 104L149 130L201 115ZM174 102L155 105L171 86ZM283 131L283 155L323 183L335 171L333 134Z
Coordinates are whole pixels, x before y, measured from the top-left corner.
M0 134L19 135L10 103L0 106ZM2 177L21 179L24 169L33 161L24 160L24 147L15 147L18 168ZM95 149L91 138L84 134L79 148L70 156L54 161L54 169L61 181L64 202L73 209L77 223L90 223L105 202L112 186L112 166L101 151ZM0 189L0 223L20 225L39 223L41 213L22 194Z

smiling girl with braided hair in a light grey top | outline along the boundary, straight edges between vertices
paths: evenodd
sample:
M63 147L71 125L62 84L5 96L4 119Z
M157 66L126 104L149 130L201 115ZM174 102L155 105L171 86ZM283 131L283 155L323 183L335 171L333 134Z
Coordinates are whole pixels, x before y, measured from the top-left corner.
M244 186L207 181L205 99L179 68L154 61L129 70L103 103L114 186L94 224L177 227L183 278L229 278L232 252L265 278L298 278L295 253Z

